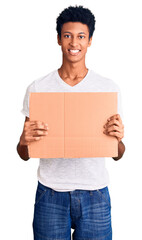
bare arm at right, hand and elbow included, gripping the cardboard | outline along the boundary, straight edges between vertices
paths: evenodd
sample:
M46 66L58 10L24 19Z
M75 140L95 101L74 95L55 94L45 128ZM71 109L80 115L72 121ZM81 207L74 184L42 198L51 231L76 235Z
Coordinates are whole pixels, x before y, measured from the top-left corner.
M118 157L113 157L115 161L122 158L125 152L125 145L121 141L124 137L124 125L119 114L111 116L104 125L104 133L108 136L114 136L118 140Z

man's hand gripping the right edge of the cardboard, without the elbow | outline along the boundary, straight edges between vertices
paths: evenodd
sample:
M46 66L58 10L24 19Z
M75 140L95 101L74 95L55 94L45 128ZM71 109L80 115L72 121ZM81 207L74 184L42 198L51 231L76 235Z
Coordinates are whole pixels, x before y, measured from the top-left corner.
M103 126L104 132L108 136L117 138L118 143L124 137L124 125L119 114L115 114L107 119L107 123Z

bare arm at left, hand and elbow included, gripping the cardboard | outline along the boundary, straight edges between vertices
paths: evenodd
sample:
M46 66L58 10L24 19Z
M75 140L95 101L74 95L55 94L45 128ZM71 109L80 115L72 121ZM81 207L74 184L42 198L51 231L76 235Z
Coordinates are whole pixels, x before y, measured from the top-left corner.
M17 145L17 152L23 160L27 161L30 159L28 145L46 136L48 129L48 124L40 121L30 121L30 119L26 117L23 132Z

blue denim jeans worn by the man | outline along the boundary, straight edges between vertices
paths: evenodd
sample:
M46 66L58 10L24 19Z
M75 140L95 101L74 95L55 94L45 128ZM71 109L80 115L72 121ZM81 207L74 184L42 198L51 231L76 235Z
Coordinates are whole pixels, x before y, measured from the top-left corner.
M38 182L34 240L112 240L108 187L57 192Z

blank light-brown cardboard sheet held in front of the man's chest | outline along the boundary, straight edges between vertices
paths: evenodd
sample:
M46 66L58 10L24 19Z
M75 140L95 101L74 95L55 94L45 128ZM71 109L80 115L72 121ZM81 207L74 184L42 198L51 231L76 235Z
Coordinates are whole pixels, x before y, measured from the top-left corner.
M30 93L30 120L48 123L48 135L30 143L32 158L117 157L118 141L103 125L117 114L116 92Z

